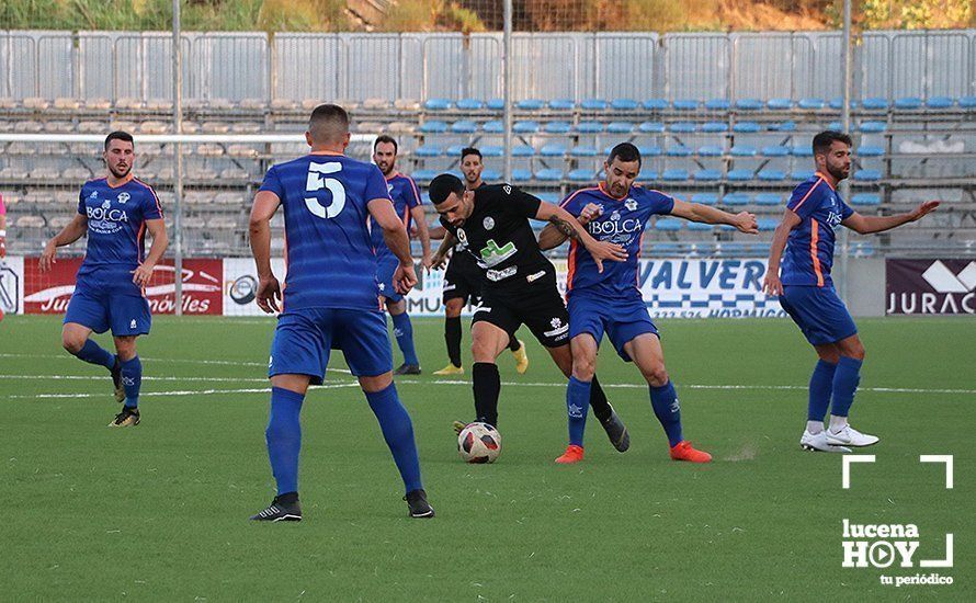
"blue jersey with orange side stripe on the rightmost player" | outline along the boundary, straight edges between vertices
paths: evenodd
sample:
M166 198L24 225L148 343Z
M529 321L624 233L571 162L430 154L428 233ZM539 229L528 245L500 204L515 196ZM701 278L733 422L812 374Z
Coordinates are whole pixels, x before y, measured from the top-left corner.
M786 207L801 223L786 239L780 281L784 285L831 285L835 231L854 211L819 172L793 190Z

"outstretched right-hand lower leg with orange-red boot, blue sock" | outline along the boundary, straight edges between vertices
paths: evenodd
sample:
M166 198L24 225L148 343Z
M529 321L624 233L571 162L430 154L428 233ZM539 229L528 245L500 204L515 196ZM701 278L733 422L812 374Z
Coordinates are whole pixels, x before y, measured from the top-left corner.
M708 463L712 455L692 447L684 439L681 428L681 405L674 385L665 367L665 352L660 339L652 333L643 333L624 344L624 351L637 365L650 388L650 406L668 435L671 458L692 463Z

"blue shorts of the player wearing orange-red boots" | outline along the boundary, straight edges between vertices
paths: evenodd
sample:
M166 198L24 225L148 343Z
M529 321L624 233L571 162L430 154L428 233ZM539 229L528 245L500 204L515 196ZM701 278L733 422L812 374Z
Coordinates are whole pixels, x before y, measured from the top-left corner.
M639 298L621 302L570 293L568 307L570 340L578 334L590 333L600 345L605 332L624 362L631 362L631 356L624 351L627 342L644 333L658 335L657 327L647 314L647 306Z

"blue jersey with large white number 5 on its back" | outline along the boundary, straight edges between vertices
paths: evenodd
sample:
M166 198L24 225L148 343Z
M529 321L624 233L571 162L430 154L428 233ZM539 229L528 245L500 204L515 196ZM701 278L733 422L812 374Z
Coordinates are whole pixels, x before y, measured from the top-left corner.
M389 200L379 168L306 155L273 166L260 190L277 195L285 213L283 309L378 309L366 204Z

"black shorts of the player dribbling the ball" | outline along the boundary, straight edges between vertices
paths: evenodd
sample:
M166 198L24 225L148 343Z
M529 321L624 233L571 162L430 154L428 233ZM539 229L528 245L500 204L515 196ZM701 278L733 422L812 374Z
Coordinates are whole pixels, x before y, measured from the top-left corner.
M569 343L569 312L556 288L556 272L548 268L545 274L513 275L519 278L518 287L504 287L487 283L481 295L481 305L475 308L472 325L488 322L513 337L519 327L525 325L535 339L546 348L558 348Z

